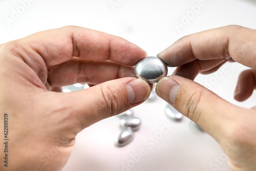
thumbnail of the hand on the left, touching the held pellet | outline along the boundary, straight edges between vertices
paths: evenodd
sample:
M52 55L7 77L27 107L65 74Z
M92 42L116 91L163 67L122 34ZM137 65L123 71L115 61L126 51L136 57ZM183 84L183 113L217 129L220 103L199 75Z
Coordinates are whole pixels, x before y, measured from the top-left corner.
M142 79L135 79L126 84L126 89L129 96L129 103L135 104L146 100L150 96L150 84Z

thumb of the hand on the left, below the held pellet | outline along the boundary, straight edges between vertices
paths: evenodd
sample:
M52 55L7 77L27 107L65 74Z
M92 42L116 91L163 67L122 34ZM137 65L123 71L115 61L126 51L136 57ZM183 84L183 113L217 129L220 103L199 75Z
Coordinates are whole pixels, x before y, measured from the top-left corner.
M73 103L72 113L81 130L104 118L129 110L144 102L151 86L142 79L126 77L107 81L89 89L68 93L66 101Z

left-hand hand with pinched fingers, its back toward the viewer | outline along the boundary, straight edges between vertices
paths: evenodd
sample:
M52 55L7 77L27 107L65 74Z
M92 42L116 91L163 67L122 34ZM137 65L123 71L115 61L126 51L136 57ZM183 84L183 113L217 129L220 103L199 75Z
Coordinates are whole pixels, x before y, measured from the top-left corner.
M8 114L9 164L0 170L61 170L78 132L150 96L150 85L133 77L143 57L129 41L75 26L1 45L0 121ZM49 91L77 82L96 86Z

